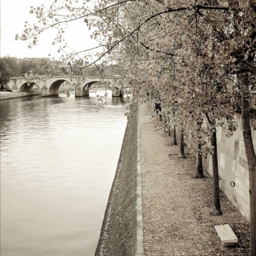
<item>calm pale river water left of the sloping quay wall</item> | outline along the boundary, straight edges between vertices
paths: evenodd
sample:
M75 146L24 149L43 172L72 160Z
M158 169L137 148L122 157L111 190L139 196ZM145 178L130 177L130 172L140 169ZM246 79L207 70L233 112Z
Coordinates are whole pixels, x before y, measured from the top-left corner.
M127 124L97 99L0 102L1 256L94 255Z

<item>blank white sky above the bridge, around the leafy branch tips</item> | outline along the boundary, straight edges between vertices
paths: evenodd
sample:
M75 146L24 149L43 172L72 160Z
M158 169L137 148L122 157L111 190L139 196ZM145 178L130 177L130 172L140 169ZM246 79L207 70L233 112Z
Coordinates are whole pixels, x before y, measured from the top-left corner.
M28 41L15 41L15 34L22 34L25 22L36 23L35 15L29 14L30 6L40 6L42 3L51 4L53 0L0 0L0 55L16 58L43 58L58 57L58 44L52 45L56 35L55 29L50 29L41 34L37 46L28 48ZM90 39L91 30L88 31L83 20L69 24L64 33L64 38L69 46L76 51L95 47L97 42ZM63 43L61 44L63 45Z

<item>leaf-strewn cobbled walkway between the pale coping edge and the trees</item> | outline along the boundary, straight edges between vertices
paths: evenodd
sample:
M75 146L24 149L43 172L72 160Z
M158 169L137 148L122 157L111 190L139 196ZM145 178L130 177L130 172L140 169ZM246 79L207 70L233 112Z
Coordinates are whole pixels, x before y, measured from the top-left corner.
M178 158L167 133L157 132L140 107L144 255L249 255L249 226L221 193L222 216L211 216L212 178L194 179L196 159ZM148 124L150 123L150 124ZM186 153L188 149L186 148ZM173 154L169 156L170 154ZM214 225L229 224L238 245L224 247Z

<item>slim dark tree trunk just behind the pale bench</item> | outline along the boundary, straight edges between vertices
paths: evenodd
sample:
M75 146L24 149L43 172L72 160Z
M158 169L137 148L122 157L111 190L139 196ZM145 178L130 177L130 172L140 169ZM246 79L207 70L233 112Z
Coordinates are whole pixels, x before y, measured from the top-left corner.
M217 137L216 132L213 132L211 138L211 145L214 146L212 152L212 176L213 176L213 215L221 215L221 203L219 200L219 169L218 169L218 155L217 155Z

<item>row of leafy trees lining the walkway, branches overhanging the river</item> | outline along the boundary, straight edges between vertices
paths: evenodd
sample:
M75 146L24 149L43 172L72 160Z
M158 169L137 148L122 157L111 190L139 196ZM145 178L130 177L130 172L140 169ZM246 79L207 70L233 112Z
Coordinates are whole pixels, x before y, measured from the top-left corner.
M122 68L123 90L132 95L126 99L128 114L144 97L152 108L161 103L159 113L167 126L179 125L198 143L197 177L203 176L201 156L212 155L214 215L222 214L216 127L227 126L227 136L232 136L234 116L241 114L250 179L250 256L255 256L256 155L251 131L256 129L256 113L249 103L256 94L256 1L54 0L48 6L31 6L30 13L35 24L26 23L16 39L30 40L32 47L41 33L53 28L52 44L60 45L60 58L52 59L57 66L66 63L82 70L116 63ZM74 20L81 21L79 31L82 26L91 30L99 44L80 52L69 48L64 33Z

